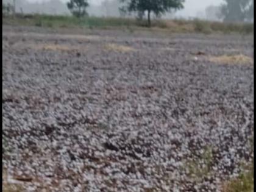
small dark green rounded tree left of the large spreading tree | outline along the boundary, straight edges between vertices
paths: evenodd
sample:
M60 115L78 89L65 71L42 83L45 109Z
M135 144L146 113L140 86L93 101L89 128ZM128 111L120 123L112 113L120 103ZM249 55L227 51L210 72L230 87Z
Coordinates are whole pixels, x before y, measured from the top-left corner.
M88 15L86 11L86 8L89 5L87 0L70 0L70 2L67 2L66 5L68 6L70 12L78 18Z

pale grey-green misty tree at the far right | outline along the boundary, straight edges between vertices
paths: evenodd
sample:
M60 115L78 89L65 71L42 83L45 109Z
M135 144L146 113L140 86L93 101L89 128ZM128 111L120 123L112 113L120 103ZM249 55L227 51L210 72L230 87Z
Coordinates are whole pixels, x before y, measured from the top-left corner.
M221 15L224 21L252 21L254 18L254 0L224 0Z

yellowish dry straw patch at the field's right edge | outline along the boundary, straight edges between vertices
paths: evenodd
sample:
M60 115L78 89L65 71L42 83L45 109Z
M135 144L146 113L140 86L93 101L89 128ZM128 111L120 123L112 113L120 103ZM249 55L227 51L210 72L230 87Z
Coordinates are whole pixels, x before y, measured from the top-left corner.
M218 57L210 57L209 60L215 63L227 63L227 64L251 64L254 60L246 55L221 55Z

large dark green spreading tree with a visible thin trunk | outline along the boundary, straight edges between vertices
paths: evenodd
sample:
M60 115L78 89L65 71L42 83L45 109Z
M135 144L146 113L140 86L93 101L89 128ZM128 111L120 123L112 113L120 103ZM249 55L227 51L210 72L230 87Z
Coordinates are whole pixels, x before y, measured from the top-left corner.
M148 13L148 25L151 26L151 13L159 16L166 12L183 8L185 0L120 0L127 2L128 12Z

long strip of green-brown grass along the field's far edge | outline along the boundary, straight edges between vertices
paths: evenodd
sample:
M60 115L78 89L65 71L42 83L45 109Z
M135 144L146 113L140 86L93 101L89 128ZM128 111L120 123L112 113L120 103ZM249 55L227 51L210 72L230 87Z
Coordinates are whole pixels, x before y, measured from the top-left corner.
M23 25L23 26L38 26L49 28L63 27L79 27L79 28L101 28L108 29L117 27L118 29L133 30L148 28L146 20L138 21L132 18L99 18L95 16L86 16L84 18L76 18L74 16L65 15L23 15L18 14L5 16L2 18L3 24ZM202 34L210 34L212 32L222 32L229 34L232 32L240 34L253 34L254 24L250 23L221 23L216 21L204 20L152 20L151 29L165 29L170 32L197 32Z

